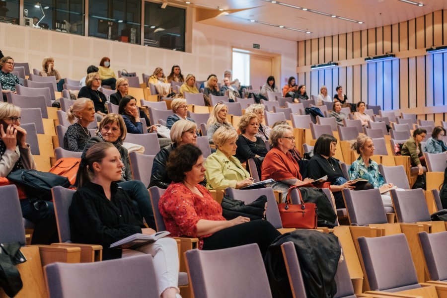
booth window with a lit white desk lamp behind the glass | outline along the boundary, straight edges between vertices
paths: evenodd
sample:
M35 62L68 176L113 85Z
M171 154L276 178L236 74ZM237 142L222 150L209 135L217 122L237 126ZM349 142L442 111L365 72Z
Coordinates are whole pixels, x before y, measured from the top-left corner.
M25 26L84 35L84 0L24 0Z

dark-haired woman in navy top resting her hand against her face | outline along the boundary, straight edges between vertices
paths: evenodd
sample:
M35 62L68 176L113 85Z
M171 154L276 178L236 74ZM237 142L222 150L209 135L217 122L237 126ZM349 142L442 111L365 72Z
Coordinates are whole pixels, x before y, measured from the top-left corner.
M143 112L144 113L144 112ZM137 99L132 95L126 95L121 98L118 108L118 114L123 116L127 132L131 134L145 134L143 124L140 121L140 109L137 106ZM157 132L157 127L152 125L148 127L148 132Z

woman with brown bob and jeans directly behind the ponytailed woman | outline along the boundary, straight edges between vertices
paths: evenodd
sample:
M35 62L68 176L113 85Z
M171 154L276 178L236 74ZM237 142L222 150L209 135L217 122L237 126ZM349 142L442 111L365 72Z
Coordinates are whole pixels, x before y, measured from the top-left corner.
M97 130L97 136L88 140L85 148L82 151L82 157L85 157L87 150L96 143L112 143L113 146L118 149L120 153L121 162L123 164L121 168L121 175L118 179L113 180L118 183L118 186L122 187L129 193L132 200L135 201L136 207L139 207L140 213L143 215L146 223L151 228L155 228L155 221L153 218L152 205L150 203L149 193L146 186L139 180L132 180L132 171L129 162L129 154L126 148L123 147L123 141L126 139L126 126L124 125L123 117L118 114L108 114L105 116ZM86 164L80 164L78 174L76 176L76 184L79 185L79 173Z

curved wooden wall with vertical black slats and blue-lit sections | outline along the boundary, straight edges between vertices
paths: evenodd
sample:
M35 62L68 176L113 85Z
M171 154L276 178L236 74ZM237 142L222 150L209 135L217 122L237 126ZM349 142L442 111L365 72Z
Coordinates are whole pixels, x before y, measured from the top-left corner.
M342 85L353 102L363 100L383 110L416 113L422 119L447 117L447 53L427 54L426 48L447 45L447 10L405 22L298 42L298 84L311 94L326 85L333 96ZM393 53L396 59L365 62L369 56ZM338 67L310 71L315 64ZM308 92L309 93L309 92Z

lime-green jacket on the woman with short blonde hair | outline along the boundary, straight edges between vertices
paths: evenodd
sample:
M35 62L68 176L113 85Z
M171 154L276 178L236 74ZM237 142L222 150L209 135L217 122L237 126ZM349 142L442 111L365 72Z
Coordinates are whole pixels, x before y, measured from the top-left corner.
M250 174L234 156L229 158L217 149L205 161L205 176L208 189L236 188L236 183L250 177Z

